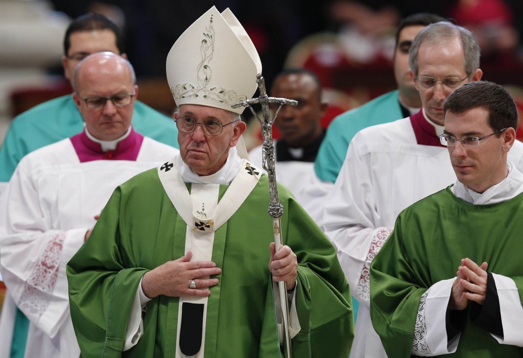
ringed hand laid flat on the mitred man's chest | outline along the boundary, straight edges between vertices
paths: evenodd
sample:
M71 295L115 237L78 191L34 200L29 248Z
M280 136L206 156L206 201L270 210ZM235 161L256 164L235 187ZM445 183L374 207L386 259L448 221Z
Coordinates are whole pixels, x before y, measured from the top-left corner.
M218 279L207 277L219 275L222 270L212 261L190 261L191 256L189 251L177 260L167 261L146 272L142 278L143 293L151 299L159 295L209 296L211 291L208 288L218 284ZM189 288L192 280L196 289Z

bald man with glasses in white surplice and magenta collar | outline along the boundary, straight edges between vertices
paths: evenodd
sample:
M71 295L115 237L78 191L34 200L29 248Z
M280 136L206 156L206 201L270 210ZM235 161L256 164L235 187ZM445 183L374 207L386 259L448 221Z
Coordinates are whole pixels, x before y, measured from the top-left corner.
M79 356L65 265L119 184L178 153L131 126L138 86L127 59L87 56L75 68L73 89L84 130L27 154L0 201L2 358ZM20 324L25 317L29 323Z

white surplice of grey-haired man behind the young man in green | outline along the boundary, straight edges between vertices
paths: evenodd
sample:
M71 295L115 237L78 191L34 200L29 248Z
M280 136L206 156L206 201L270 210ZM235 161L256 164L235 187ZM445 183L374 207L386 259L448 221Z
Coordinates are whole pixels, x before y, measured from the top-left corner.
M435 128L435 131L438 129ZM508 154L523 169L523 144ZM456 182L445 147L418 145L410 118L365 128L351 140L347 157L325 200L322 229L337 248L351 293L360 302L351 358L371 356L366 347L381 348L370 324L370 262L392 231L398 214L414 202Z

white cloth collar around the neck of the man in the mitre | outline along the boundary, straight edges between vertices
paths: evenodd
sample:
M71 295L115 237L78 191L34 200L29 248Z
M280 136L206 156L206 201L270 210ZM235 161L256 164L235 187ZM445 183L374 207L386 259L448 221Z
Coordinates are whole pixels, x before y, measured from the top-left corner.
M242 158L238 157L236 148L232 147L229 150L229 156L227 156L227 160L222 168L214 174L205 176L198 175L190 169L189 166L181 160L180 154L176 156L175 163L176 169L186 183L229 185L238 174L238 171L240 171Z

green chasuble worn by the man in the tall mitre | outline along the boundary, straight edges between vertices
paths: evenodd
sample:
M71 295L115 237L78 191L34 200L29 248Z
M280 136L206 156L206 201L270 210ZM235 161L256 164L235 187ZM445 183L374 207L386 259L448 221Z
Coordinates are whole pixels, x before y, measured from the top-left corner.
M188 190L191 185L187 184ZM220 186L221 199L228 186ZM354 335L349 285L336 251L282 186L283 244L298 257L296 310L301 331L293 356L347 358ZM222 269L210 288L205 357L280 355L269 243L274 240L265 175L214 233L212 261ZM71 316L82 357L175 357L178 297L147 303L143 336L123 349L131 305L147 270L184 255L186 223L152 169L119 186L67 266Z

